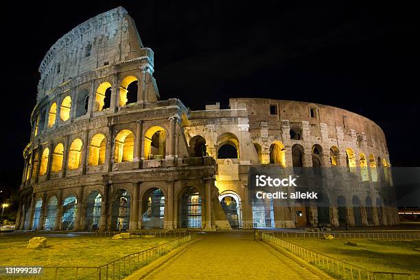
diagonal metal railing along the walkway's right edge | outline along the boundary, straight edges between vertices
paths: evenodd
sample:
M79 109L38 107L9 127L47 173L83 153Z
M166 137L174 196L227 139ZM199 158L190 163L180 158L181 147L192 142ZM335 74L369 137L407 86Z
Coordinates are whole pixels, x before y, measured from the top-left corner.
M340 259L335 257L329 257L327 255L306 249L302 246L296 245L292 242L287 242L281 240L280 238L275 237L272 233L262 233L263 240L272 242L273 244L280 246L283 249L286 249L290 253L301 257L306 262L317 266L321 270L327 272L329 275L336 277L338 279L352 279L352 280L377 280L377 279L410 279L418 280L420 279L420 274L410 274L410 273L399 273L399 272L380 272L380 271L371 271L360 266L355 266L347 262L342 262Z

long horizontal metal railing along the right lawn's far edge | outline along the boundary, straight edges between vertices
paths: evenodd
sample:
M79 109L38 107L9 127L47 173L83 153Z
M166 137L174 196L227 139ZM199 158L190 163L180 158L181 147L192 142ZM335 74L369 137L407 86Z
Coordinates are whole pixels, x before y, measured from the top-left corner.
M335 239L360 239L360 240L383 240L383 241L413 241L420 240L420 233L369 233L356 232L344 233L333 231L269 231L277 238L323 238L326 234L331 234Z

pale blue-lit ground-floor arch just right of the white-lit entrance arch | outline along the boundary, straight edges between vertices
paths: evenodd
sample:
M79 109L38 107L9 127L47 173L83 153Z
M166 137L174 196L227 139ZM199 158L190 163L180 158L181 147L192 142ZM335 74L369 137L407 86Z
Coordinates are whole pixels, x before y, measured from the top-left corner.
M257 198L257 192L255 192L253 194L252 207L254 228L275 227L274 206L272 199Z

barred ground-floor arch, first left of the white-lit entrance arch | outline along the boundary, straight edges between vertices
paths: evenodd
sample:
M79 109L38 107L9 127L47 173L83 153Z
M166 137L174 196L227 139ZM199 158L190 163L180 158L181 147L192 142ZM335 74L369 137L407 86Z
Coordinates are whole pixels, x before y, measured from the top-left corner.
M202 205L200 192L194 187L185 190L180 199L180 225L182 228L202 227Z

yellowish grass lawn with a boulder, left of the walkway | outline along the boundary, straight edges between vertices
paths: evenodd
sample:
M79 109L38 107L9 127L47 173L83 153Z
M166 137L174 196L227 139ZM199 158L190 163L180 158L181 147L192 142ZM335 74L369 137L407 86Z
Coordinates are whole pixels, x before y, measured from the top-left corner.
M26 249L28 240L30 237L0 238L0 265L101 266L124 255L149 249L171 239L111 240L110 237L91 236L47 237L47 248L38 250ZM81 276L80 279L91 279L89 275L93 272L93 270L80 271L79 277ZM68 274L64 275L64 272L59 271L58 274L58 279L73 279ZM75 274L75 271L71 271L71 274ZM51 279L52 275L54 275L54 271L46 269L45 277L39 279ZM17 278L11 277L10 279Z

